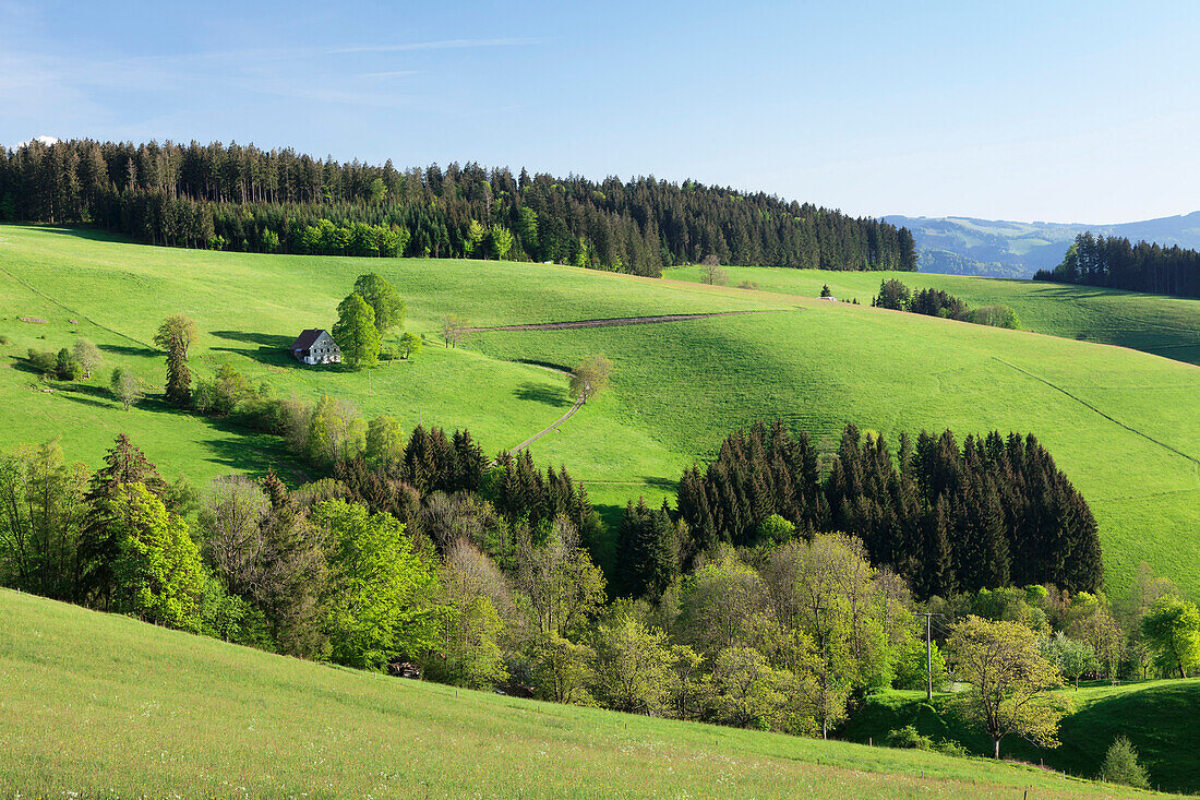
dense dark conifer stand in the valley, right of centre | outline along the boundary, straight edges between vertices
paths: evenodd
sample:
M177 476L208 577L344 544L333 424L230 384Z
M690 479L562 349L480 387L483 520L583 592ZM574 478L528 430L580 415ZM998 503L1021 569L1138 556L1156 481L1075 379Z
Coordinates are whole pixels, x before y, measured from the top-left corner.
M1104 583L1096 519L1033 435L992 431L960 447L949 430L916 442L905 432L893 458L881 436L850 424L822 464L804 431L758 423L726 438L706 470L683 473L678 517L688 553L852 533L918 597Z

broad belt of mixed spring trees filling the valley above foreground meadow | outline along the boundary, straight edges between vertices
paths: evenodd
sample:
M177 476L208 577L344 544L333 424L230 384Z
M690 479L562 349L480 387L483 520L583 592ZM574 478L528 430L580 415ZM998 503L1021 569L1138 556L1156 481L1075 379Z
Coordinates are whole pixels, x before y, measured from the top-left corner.
M872 689L960 680L973 688L955 708L1000 756L1009 735L1056 744L1068 681L1200 663L1200 613L1145 566L1120 605L1054 585L922 603L858 537L815 532L720 542L614 597L581 536L599 524L582 486L528 454L486 465L466 432L418 429L385 460L356 456L298 489L269 472L203 492L168 484L124 435L95 473L55 442L23 446L0 454L0 500L5 586L305 658L660 717L829 736ZM630 509L631 526L686 527ZM946 620L928 667L914 611Z

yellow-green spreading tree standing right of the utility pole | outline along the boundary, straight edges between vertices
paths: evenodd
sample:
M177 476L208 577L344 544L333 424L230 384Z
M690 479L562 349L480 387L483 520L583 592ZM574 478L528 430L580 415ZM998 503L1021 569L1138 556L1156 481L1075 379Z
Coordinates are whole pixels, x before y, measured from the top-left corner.
M1039 747L1058 746L1058 722L1067 706L1050 692L1063 681L1039 652L1033 631L971 615L953 627L947 649L959 677L972 687L961 699L964 715L991 736L995 758L1009 734Z

